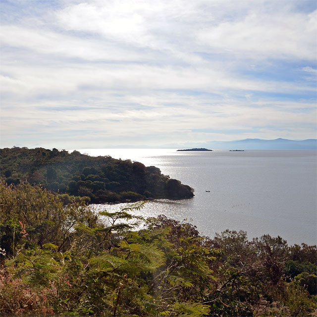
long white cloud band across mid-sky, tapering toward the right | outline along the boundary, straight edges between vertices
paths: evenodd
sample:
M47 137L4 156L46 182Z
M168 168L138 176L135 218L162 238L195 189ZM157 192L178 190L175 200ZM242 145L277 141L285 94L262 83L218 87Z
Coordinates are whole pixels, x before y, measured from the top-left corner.
M158 90L191 90L223 94L227 91L314 92L315 88L298 83L246 79L203 67L172 67L138 64L99 65L77 64L64 67L42 65L7 65L2 70L9 74L0 77L1 91L17 96L36 97L45 94L101 98L105 92L135 95ZM72 98L73 96L70 95Z

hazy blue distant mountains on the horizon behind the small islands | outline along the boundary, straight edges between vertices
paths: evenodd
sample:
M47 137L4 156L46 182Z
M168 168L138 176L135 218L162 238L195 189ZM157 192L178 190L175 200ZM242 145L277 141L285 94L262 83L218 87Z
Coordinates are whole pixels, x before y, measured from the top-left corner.
M317 139L308 140L263 140L245 139L236 141L210 141L195 146L212 150L317 150Z

